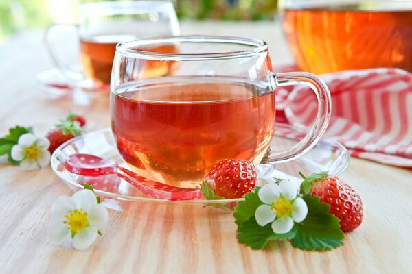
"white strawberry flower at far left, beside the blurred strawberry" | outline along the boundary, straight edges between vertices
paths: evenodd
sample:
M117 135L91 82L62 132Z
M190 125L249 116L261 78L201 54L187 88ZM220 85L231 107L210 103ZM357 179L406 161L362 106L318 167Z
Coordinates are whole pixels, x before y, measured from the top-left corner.
M48 166L50 162L49 139L36 138L32 133L25 133L19 137L17 145L12 147L11 157L20 162L21 169L27 171L38 167Z

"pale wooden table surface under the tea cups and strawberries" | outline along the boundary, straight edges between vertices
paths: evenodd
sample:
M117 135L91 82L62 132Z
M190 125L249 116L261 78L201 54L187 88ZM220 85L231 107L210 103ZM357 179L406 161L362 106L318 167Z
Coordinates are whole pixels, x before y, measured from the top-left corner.
M274 64L290 62L279 25L183 22L183 34L263 38ZM0 134L32 125L42 135L69 111L86 114L93 128L109 125L108 101L75 106L45 99L36 74L49 69L41 32L21 34L0 46ZM341 177L363 198L365 216L345 245L329 252L294 249L289 242L252 251L236 241L231 216L210 221L173 220L200 209L174 209L168 219L145 211L111 211L95 245L76 251L71 243L47 240L50 208L71 195L52 169L21 171L0 165L0 273L412 273L412 169L351 159ZM179 215L180 216L180 215Z

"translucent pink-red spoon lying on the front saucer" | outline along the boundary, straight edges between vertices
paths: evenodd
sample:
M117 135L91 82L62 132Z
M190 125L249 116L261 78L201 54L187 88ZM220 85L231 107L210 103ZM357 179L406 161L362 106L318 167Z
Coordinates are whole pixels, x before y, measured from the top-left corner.
M84 176L115 174L138 188L144 194L170 201L193 200L202 197L201 190L196 188L179 188L141 177L137 173L90 154L72 154L66 160L66 169L71 173Z

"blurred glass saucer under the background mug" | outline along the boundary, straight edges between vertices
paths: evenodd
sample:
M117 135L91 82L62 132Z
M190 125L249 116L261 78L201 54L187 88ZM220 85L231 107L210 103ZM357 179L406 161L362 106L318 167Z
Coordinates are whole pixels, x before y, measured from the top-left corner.
M69 79L58 69L49 69L37 75L37 85L48 99L67 99L87 105L91 99L108 97L109 86L95 87L89 80Z

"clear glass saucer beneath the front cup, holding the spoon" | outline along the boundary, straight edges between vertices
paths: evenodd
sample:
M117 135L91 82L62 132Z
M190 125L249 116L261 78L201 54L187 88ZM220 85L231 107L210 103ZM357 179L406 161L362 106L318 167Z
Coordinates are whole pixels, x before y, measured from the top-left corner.
M279 132L299 133L290 125L277 124ZM282 136L275 136L271 149L295 145L297 141ZM150 219L170 219L186 221L232 220L231 212L214 207L216 204L227 203L233 205L241 199L192 201L166 201L144 195L130 186L123 179L115 175L87 177L70 173L65 169L65 160L73 153L89 153L102 158L113 160L121 166L126 166L120 157L111 129L102 129L98 132L84 134L73 138L60 146L52 155L51 165L54 173L62 179L69 188L77 191L85 183L93 186L96 195L100 195L104 204L113 210L125 214L147 216ZM343 145L335 140L323 137L308 153L297 160L282 163L260 164L258 169L258 185L264 184L267 178L299 180L298 171L306 174L319 171L328 171L330 175L339 175L349 164L349 154ZM301 179L300 179L301 181Z

